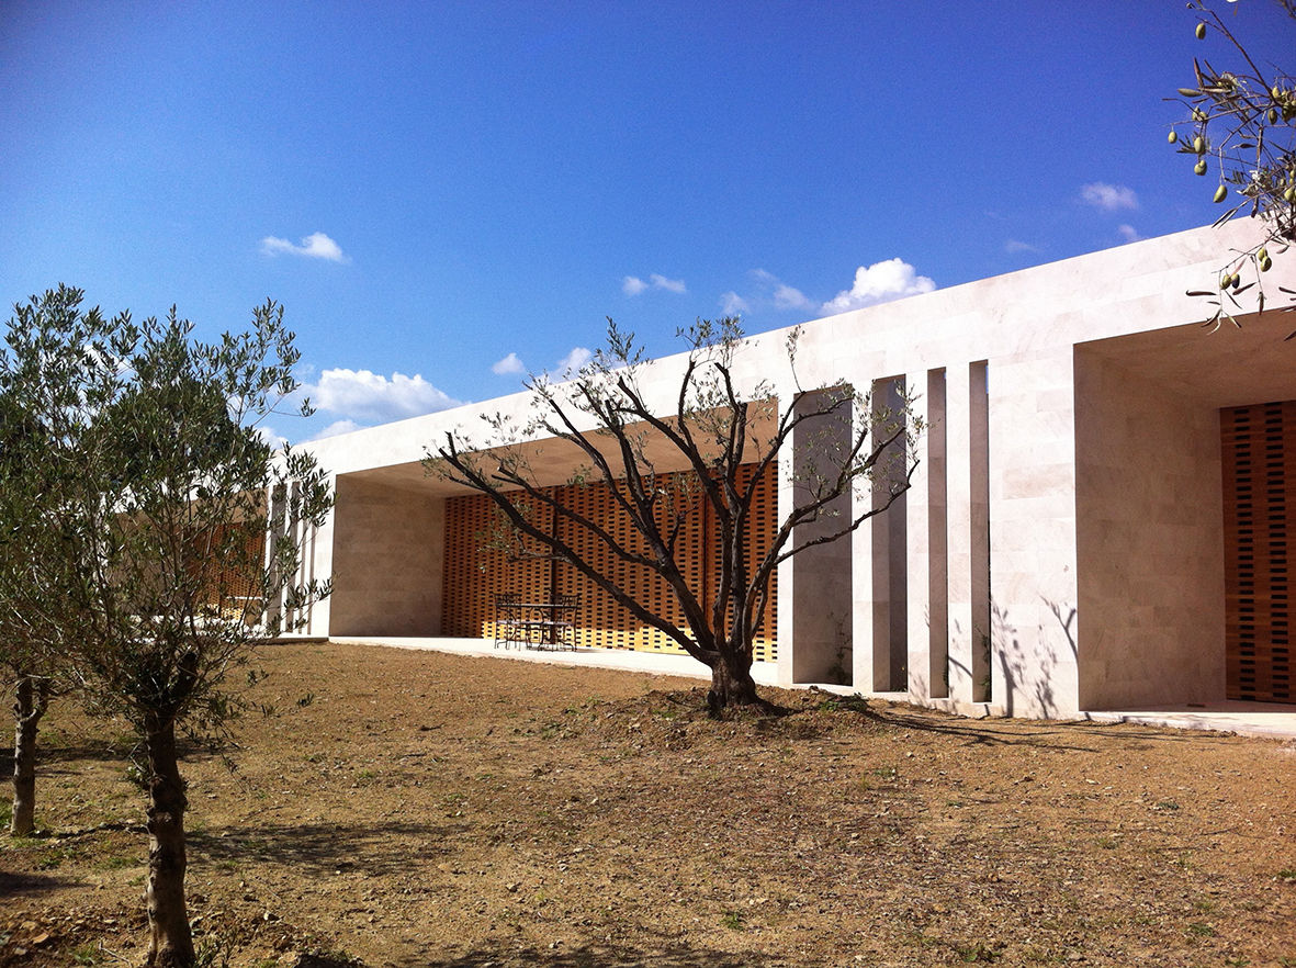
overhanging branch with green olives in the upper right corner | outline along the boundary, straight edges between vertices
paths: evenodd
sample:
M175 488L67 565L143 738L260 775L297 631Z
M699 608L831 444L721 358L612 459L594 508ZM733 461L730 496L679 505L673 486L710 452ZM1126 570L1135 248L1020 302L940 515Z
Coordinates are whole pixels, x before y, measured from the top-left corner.
M1296 1L1277 3L1293 21L1296 41ZM1223 320L1236 324L1232 312L1242 306L1238 297L1258 285L1274 257L1296 242L1296 78L1284 69L1257 65L1208 0L1194 0L1188 9L1199 18L1198 39L1222 36L1236 66L1218 70L1204 58L1194 58L1196 84L1179 88L1174 98L1190 115L1172 126L1170 144L1192 159L1195 174L1216 174L1216 203L1235 200L1217 225L1243 210L1265 225L1261 241L1227 260L1214 289L1191 293L1210 299L1210 325ZM1244 273L1255 279L1244 281ZM1279 290L1296 295L1286 286ZM1264 311L1264 286L1257 290L1257 301Z

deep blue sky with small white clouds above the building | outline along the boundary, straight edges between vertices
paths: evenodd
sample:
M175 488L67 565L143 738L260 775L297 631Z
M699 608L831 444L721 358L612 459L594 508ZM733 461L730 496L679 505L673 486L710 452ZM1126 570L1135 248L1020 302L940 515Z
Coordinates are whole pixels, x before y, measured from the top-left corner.
M1296 25L1220 3L1258 58ZM308 438L1209 223L1179 0L0 4L0 299L286 306ZM573 356L574 354L574 356Z

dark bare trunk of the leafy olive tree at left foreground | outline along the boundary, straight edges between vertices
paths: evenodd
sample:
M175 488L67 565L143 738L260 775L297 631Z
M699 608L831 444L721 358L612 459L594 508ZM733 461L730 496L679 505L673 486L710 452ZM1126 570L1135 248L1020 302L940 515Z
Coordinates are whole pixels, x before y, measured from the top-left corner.
M193 934L184 902L184 780L175 753L171 718L149 723L149 908L148 968L191 968Z

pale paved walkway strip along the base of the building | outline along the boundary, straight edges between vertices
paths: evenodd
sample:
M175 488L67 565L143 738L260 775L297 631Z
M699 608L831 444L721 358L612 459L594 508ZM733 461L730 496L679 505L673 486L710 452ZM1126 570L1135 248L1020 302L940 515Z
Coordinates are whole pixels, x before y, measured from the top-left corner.
M292 636L285 636L292 640ZM710 679L701 662L689 656L669 652L631 652L629 649L577 649L575 652L550 652L542 649L494 648L489 639L415 639L415 638L330 638L329 641L346 645L386 645L398 649L429 649L459 656L494 656L522 662L551 662L564 666L590 669L621 669L651 675L678 675L688 679ZM759 686L779 686L776 662L752 663L752 678ZM791 688L806 688L797 683ZM818 688L853 695L851 687L815 683ZM906 701L902 693L881 696L897 702ZM934 704L933 704L934 705ZM1239 736L1269 736L1296 739L1296 706L1274 702L1210 702L1203 706L1165 706L1161 709L1094 710L1081 713L1081 719L1094 723L1140 723L1169 726L1177 730L1218 730Z

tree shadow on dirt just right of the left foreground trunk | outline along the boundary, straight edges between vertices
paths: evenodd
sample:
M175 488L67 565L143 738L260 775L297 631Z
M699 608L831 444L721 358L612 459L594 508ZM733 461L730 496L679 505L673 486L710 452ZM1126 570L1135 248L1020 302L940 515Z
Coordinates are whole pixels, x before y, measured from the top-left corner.
M213 864L244 860L294 864L323 875L363 870L369 875L408 871L413 857L447 857L447 846L472 824L381 822L359 824L302 823L227 827L188 835L192 858Z

